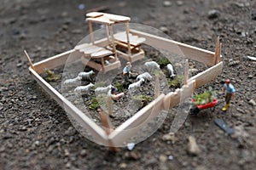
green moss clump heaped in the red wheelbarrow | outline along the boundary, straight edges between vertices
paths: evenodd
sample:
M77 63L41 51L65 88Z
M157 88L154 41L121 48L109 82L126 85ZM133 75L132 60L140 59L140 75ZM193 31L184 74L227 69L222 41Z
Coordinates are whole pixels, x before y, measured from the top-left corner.
M212 87L210 87L209 90L205 91L204 93L195 95L194 104L205 105L207 103L211 103L214 99L216 99L216 93Z

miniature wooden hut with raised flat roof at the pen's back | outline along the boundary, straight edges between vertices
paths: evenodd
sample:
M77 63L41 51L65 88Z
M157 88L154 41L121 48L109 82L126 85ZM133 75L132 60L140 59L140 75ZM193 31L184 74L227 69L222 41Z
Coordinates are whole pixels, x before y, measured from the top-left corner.
M86 14L86 17L90 29L91 43L84 43L75 47L76 50L84 54L82 57L84 64L98 71L106 72L119 68L118 56L131 62L143 59L144 51L141 46L145 38L129 33L129 21L131 20L129 17L98 12ZM96 44L92 30L93 22L105 26L107 44L103 46ZM114 34L113 25L119 23L125 24L125 31Z

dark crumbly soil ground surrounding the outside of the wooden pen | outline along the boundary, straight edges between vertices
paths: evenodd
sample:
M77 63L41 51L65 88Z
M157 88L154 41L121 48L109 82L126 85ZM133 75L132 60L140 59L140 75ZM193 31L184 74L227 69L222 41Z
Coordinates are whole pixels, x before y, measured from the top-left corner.
M253 169L256 167L256 3L250 0L170 1L35 1L3 0L0 6L0 169ZM84 3L84 9L79 4ZM236 88L230 110L189 116L176 138L173 117L133 150L113 153L78 133L66 112L29 75L26 49L32 62L73 48L85 35L86 11L108 6L104 12L131 16L131 22L159 28L173 40L214 51L220 36L224 71L208 86L222 93L224 79ZM80 6L81 7L81 6ZM215 11L212 11L215 9ZM96 27L99 28L99 27ZM205 68L189 61L190 68ZM60 88L60 87L58 87ZM214 124L224 119L234 127L229 136ZM194 136L201 152L188 152Z

